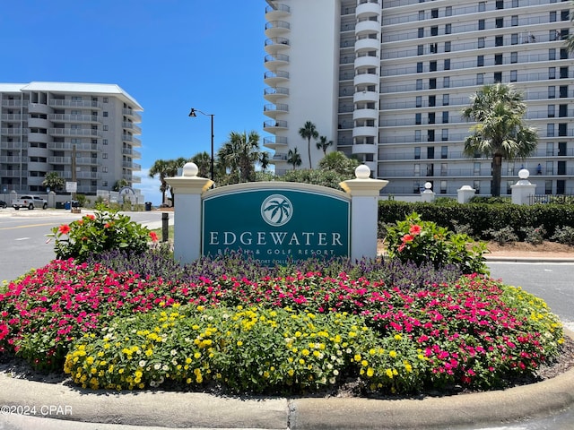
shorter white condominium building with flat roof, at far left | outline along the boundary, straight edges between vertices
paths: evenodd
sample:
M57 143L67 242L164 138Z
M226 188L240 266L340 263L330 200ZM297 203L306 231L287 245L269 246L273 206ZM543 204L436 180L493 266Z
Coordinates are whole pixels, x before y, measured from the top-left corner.
M141 182L143 109L117 85L0 83L0 107L0 192L44 192L49 172L85 194Z

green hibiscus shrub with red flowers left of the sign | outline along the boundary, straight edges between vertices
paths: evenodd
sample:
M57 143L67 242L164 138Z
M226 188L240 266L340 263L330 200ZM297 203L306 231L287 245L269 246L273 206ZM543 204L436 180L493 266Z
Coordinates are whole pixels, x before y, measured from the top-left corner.
M57 258L85 261L91 254L122 249L128 254L141 254L148 241L157 241L157 235L132 221L128 216L105 206L97 206L94 215L84 215L70 224L52 228Z

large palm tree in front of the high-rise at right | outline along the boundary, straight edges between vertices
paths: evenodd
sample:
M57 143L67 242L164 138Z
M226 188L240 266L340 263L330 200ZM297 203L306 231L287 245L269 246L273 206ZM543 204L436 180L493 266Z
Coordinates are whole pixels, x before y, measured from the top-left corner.
M463 117L476 121L470 128L473 134L465 138L464 153L492 158L493 196L500 196L502 159L524 159L536 150L538 134L524 124L525 113L522 94L502 83L485 85L463 109Z

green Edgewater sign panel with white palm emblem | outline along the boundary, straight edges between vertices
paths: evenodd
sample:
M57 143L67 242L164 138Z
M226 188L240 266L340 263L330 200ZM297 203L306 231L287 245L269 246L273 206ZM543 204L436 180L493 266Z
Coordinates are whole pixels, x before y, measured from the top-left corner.
M203 201L204 255L241 251L267 265L350 254L349 199L293 189L235 190Z

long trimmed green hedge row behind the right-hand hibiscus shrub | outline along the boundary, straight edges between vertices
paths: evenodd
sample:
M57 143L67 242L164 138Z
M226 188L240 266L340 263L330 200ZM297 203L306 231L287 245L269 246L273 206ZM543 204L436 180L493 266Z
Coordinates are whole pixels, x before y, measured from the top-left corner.
M487 230L512 228L520 236L523 228L544 226L547 236L554 235L556 229L574 227L574 205L535 204L484 204L457 202L397 202L380 201L378 205L379 224L395 223L405 219L412 212L418 213L426 221L436 222L441 227L457 230L458 226L468 225L476 239L486 240Z

